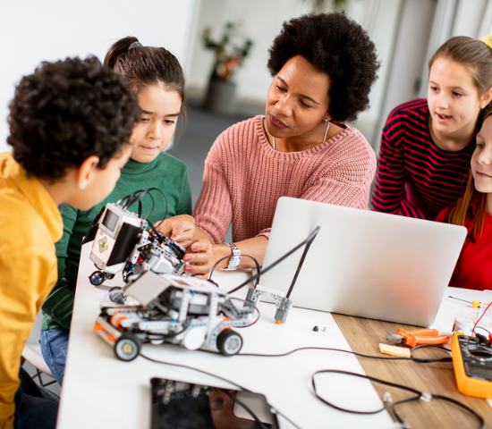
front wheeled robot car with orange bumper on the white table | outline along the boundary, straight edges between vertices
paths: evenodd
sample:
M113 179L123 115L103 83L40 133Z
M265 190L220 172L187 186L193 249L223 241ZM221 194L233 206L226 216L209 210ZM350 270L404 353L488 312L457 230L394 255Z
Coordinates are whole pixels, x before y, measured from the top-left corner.
M233 356L242 349L242 336L231 328L254 322L255 307L236 307L224 290L191 276L147 271L124 294L140 305L103 307L94 326L122 360L139 356L144 342Z

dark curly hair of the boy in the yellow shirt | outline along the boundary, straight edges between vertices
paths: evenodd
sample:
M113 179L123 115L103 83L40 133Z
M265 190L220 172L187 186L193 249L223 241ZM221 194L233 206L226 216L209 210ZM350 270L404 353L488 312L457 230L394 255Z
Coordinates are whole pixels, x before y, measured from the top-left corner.
M98 156L104 169L140 118L125 80L96 57L41 63L21 79L9 108L13 158L28 176L48 181L89 156Z

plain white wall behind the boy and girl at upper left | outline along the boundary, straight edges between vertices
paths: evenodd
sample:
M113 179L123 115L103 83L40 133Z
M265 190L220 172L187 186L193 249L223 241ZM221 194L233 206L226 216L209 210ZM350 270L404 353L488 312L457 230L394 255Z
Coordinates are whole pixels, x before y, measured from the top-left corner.
M97 55L136 36L165 46L189 69L196 0L0 0L0 152L10 150L7 106L21 76L41 61Z

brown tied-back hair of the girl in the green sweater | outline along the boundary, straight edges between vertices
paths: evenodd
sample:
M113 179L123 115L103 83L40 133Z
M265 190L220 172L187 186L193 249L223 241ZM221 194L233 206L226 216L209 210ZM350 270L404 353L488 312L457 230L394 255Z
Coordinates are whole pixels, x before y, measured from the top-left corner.
M135 94L149 86L177 92L182 100L182 121L178 123L177 133L181 134L186 122L185 79L182 66L173 54L164 47L142 46L138 38L128 36L109 48L103 65L121 74Z

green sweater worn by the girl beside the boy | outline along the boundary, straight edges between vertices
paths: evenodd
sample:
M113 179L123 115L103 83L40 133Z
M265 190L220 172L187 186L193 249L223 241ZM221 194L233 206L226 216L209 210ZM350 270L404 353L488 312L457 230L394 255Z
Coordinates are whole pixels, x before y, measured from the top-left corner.
M64 205L62 211L64 236L56 243L58 282L43 305L42 331L70 328L81 257L81 241L101 207L106 206L106 203L115 203L136 190L148 188L157 188L165 193L168 203L166 217L191 214L191 189L186 165L165 152L148 164L130 159L123 167L122 175L113 192L98 206L81 211ZM152 192L152 196L156 200L156 207L148 219L152 223L157 223L164 219L165 201L157 191ZM145 215L152 206L152 200L144 197L141 201L142 215ZM131 209L136 211L138 206L132 206ZM96 267L94 269L96 270Z

